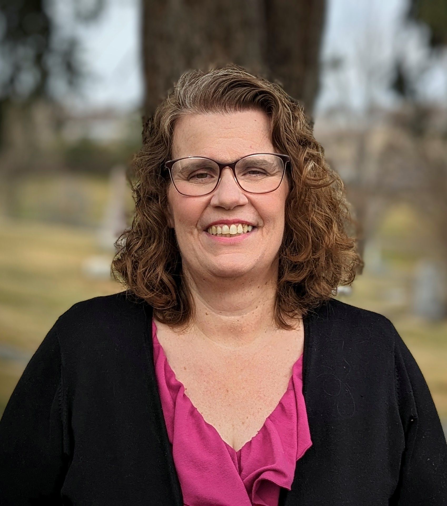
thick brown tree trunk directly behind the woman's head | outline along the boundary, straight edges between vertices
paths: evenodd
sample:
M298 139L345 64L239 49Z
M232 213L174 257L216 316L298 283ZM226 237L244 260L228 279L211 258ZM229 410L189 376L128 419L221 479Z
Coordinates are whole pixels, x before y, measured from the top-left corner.
M142 2L146 117L185 70L229 62L278 79L312 114L326 0Z

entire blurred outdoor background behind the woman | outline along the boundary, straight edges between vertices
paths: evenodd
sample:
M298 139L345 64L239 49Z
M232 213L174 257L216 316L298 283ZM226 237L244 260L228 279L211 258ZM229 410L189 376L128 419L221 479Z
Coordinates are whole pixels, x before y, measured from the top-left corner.
M0 413L58 316L123 289L142 121L229 61L315 122L365 261L337 298L392 320L447 428L446 0L0 0Z

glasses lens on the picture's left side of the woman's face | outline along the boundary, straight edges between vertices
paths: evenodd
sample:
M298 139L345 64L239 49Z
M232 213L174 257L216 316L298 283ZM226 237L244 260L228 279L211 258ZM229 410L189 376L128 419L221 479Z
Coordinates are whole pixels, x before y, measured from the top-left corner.
M219 166L207 158L184 158L172 165L172 180L180 193L189 196L213 191L219 177Z

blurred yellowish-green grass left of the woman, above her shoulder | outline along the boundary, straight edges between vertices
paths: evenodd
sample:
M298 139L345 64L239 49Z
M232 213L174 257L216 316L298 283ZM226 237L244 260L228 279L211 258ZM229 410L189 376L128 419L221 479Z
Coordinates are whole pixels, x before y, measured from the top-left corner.
M113 257L101 251L93 231L2 221L0 243L0 344L30 353L71 305L122 290L112 279L83 274L88 257Z

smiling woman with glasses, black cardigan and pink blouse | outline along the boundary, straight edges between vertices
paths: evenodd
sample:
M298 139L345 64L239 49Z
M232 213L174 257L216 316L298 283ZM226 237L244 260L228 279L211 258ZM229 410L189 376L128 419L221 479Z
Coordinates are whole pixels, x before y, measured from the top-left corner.
M0 423L2 504L447 504L447 445L302 108L229 65L147 124L127 288L72 306Z

